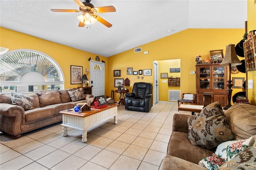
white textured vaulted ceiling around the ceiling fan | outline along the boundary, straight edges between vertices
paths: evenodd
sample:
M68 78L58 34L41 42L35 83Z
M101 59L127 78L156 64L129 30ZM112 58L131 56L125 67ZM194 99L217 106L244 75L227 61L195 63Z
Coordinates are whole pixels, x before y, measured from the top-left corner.
M83 0L81 0L83 2ZM105 57L170 36L188 28L244 28L247 0L92 0L95 7L114 6L98 13L100 22L78 27L71 12L74 0L0 0L0 26Z

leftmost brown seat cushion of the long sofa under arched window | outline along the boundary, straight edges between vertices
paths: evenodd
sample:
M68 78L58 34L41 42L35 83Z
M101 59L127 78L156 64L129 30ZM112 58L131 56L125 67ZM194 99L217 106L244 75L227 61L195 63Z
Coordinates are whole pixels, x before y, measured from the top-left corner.
M25 111L25 121L35 121L46 117L51 117L54 109L50 107L39 107L33 110Z

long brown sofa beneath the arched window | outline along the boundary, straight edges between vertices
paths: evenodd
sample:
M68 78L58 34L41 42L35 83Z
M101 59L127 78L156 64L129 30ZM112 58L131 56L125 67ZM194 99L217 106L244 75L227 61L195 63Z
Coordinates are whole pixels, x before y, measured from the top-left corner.
M77 92L80 97L71 99L68 93L71 91ZM12 105L11 93L1 94L0 130L13 135L14 138L19 138L25 132L60 122L62 121L60 111L74 108L77 103L86 103L87 99L93 97L93 95L84 95L81 91L82 89L71 88L19 93L33 99L34 109L26 111L21 106Z

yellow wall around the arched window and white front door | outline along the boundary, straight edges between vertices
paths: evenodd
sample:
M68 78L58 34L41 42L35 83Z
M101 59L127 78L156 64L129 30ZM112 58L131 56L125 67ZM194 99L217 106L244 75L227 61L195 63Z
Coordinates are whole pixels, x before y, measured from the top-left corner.
M77 65L83 67L83 73L86 73L85 69L90 68L90 62L88 58L95 60L96 54L61 45L58 43L50 42L20 32L15 32L6 28L0 27L0 46L9 48L9 51L14 49L33 49L45 53L52 57L61 67L64 73L64 87L81 87L82 84L70 83L70 65ZM100 57L100 61L106 62L105 69L108 69L108 58ZM105 84L108 79L108 74L105 75ZM87 75L90 80L90 73ZM90 85L90 84L89 84Z

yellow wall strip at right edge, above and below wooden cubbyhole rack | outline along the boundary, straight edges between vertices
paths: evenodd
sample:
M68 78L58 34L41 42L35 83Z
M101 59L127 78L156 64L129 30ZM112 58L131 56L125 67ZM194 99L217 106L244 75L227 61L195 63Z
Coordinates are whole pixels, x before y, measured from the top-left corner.
M247 1L247 31L256 30L256 1ZM248 99L250 104L256 105L256 70L248 71L247 78L253 79L253 89L248 89Z

